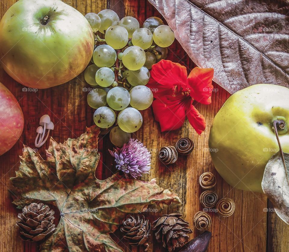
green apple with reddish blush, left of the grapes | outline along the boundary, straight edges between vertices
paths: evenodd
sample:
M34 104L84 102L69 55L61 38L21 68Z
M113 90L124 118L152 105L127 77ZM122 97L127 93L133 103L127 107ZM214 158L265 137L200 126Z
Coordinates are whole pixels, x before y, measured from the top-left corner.
M20 0L0 22L0 62L30 88L70 81L88 65L93 47L89 22L60 0Z

